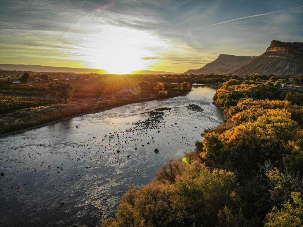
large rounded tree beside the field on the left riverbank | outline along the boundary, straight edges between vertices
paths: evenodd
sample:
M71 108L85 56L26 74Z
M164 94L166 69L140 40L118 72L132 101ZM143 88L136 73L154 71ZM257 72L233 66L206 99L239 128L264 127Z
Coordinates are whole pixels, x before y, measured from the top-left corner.
M48 96L53 96L58 102L68 101L73 97L74 87L69 83L55 82L47 86L46 94Z

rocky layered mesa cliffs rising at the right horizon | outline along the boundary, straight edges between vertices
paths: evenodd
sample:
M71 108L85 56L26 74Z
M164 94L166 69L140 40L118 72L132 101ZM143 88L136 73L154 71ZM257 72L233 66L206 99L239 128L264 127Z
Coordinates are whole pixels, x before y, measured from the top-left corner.
M266 52L260 56L219 55L219 57L198 69L184 74L248 75L253 73L274 75L303 75L303 42L281 42L272 40Z

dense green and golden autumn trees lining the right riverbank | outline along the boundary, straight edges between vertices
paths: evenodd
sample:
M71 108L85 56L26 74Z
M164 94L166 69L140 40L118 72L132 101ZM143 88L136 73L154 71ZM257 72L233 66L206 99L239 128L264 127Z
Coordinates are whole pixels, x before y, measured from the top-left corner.
M148 185L130 186L101 226L301 227L303 107L280 86L221 84L214 102L225 123Z

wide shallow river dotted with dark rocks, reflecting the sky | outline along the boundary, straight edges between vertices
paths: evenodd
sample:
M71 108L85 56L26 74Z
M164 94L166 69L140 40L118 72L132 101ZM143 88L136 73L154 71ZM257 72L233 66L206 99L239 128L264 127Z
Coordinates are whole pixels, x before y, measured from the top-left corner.
M214 94L196 86L0 138L0 226L95 226L115 215L128 184L147 184L223 122Z

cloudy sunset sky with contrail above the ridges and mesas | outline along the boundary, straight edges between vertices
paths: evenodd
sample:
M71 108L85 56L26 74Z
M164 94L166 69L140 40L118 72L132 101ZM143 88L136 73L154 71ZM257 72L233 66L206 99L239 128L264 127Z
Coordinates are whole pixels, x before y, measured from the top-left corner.
M299 1L0 0L0 63L185 72L303 42Z

